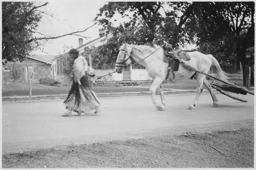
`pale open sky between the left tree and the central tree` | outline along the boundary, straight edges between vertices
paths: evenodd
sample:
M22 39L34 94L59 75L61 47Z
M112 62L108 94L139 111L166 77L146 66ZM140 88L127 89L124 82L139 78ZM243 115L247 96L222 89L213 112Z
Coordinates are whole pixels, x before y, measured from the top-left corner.
M49 4L43 8L42 11L49 11L53 14L54 18L44 15L41 21L38 23L37 32L50 36L59 36L67 33L81 31L89 28L94 24L93 19L96 14L99 13L99 9L107 4L104 0L51 0ZM36 2L38 4L44 4L45 2ZM83 33L80 36L70 35L62 38L49 40L44 44L44 51L34 51L36 55L58 55L62 54L64 46L77 48L79 46L78 39L83 38L83 43L92 41L99 37L99 29L101 26L95 25ZM37 35L42 37L42 35ZM68 49L66 49L67 52Z

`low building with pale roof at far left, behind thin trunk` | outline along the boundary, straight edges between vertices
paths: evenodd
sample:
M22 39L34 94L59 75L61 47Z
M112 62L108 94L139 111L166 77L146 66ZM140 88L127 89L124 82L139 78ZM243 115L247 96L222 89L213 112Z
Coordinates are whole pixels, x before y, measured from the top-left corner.
M28 70L31 82L37 83L41 78L52 78L52 61L55 55L30 55L28 56ZM2 81L28 82L26 61L8 62L2 67Z

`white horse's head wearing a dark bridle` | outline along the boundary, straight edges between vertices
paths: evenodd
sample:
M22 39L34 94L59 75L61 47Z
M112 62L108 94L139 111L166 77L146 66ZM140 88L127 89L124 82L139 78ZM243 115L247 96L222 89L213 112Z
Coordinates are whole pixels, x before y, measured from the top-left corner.
M131 45L126 43L119 48L119 53L115 64L115 70L117 71L117 73L123 73L123 70L129 67L129 65L131 64L131 51Z

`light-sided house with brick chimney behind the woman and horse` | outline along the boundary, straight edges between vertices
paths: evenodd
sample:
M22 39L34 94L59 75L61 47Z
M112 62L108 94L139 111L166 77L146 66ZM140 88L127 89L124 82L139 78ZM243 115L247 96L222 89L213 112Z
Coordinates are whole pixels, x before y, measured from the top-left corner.
M108 34L103 37L99 37L95 40L89 41L83 44L83 39L79 38L78 44L79 46L76 48L80 55L83 55L89 63L91 63L91 54L90 52L85 51L86 48L90 48L92 46L98 47L102 45L102 41L110 38L112 34ZM117 56L116 56L117 57ZM65 68L70 69L70 63L73 63L73 60L67 53L55 56L52 59L52 75L53 79L57 80L62 84L69 84L71 81L70 75L65 74ZM96 70L96 76L104 76L109 73L114 72L113 69L108 70ZM113 73L108 76L104 76L103 78L99 79L99 82L106 82L106 81L118 81L118 82L137 82L137 81L148 81L151 80L149 78L148 73L145 69L138 69L138 68L127 68L124 70L122 74Z

